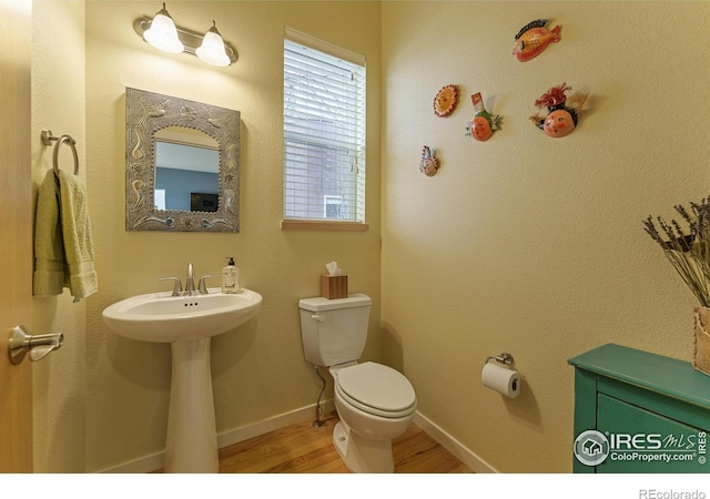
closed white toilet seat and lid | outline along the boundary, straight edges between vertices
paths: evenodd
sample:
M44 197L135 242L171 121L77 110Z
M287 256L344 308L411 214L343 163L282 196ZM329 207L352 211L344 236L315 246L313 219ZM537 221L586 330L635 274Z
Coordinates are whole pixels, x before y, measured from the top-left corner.
M337 371L335 389L348 404L385 418L414 413L414 388L399 371L376 363L356 364Z

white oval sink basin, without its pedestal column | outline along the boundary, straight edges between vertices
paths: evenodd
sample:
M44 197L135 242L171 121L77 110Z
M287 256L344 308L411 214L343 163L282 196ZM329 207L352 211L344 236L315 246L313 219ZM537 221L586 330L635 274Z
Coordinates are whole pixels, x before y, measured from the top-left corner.
M262 295L251 289L223 294L171 296L170 292L132 296L103 310L104 323L116 334L143 342L172 343L215 336L256 314Z

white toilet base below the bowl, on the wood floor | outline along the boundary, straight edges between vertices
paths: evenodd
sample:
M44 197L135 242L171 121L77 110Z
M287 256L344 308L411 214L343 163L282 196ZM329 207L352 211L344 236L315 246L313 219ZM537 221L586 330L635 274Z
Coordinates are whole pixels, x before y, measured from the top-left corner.
M352 431L343 421L333 429L333 445L347 468L356 473L393 473L392 440L373 440Z

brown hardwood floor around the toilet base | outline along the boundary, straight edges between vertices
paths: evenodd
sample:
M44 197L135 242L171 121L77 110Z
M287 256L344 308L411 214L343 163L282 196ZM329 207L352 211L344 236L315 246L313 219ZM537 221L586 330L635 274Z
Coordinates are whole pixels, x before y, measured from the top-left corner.
M337 415L313 428L303 421L220 449L221 473L347 473L349 470L333 447ZM393 440L397 473L470 473L471 470L412 425Z

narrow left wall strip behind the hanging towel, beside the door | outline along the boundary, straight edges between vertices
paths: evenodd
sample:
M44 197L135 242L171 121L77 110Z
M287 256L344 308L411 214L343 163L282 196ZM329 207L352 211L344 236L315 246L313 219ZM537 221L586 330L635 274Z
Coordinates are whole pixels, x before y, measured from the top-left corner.
M61 26L62 29L58 29ZM69 134L77 141L80 176L85 181L84 2L32 2L32 183L33 190L52 169L52 146L42 130ZM60 167L72 171L73 157L63 145ZM93 198L92 198L93 201ZM93 298L92 298L93 299ZM33 365L34 470L77 472L85 469L87 309L89 301L72 303L69 293L33 299L34 334L63 333L60 350Z

